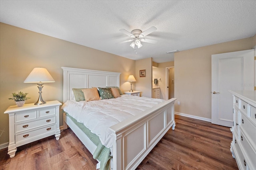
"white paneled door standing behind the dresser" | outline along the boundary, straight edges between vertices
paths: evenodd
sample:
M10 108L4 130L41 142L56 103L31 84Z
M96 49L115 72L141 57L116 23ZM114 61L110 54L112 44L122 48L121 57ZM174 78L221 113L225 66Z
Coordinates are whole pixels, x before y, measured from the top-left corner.
M254 90L254 50L212 55L212 123L232 127L228 90Z

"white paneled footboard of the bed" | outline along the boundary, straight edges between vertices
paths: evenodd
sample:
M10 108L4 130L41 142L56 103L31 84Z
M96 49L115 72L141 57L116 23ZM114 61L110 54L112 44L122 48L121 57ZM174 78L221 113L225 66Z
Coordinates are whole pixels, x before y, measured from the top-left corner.
M112 170L136 169L165 133L171 127L174 130L175 100L110 127L114 136Z

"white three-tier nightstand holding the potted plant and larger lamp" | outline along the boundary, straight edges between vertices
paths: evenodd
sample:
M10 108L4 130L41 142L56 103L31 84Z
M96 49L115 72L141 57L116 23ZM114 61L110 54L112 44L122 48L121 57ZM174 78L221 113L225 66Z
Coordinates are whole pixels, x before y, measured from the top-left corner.
M17 147L55 135L60 139L59 108L57 100L42 105L24 104L10 106L4 113L9 114L8 154L15 156Z

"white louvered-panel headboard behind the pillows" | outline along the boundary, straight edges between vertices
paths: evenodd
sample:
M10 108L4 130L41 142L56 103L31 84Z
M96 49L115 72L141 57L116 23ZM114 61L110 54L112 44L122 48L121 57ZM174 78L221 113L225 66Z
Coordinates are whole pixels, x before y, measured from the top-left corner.
M72 100L72 88L120 86L120 72L61 67L63 70L63 102Z

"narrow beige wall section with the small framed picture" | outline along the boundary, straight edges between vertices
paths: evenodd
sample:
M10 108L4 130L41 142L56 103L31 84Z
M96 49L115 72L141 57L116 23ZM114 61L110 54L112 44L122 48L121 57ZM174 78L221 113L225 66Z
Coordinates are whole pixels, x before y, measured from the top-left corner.
M135 61L136 91L141 91L140 95L151 98L152 96L152 58ZM140 70L146 70L146 77L140 77Z

